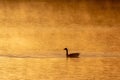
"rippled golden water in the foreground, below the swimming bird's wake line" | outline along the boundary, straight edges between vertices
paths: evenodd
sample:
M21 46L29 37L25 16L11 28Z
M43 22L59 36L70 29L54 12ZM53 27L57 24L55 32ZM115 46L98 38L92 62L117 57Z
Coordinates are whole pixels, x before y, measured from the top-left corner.
M119 80L119 58L0 58L0 80Z

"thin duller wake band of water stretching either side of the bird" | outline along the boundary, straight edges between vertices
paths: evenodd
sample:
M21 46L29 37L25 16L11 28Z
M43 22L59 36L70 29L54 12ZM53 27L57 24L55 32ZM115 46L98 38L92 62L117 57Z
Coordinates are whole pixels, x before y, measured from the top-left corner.
M63 54L0 54L0 57L8 58L66 58ZM81 53L78 58L96 58L96 57L120 57L120 53Z

